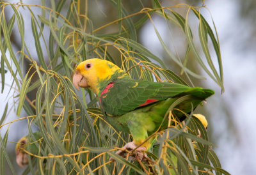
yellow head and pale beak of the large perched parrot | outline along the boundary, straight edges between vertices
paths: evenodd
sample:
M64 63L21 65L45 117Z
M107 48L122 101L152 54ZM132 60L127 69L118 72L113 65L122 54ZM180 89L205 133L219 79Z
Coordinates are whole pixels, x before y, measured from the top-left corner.
M92 58L83 61L76 67L73 77L73 84L76 89L91 88L94 93L99 94L99 82L108 80L116 73L125 72L110 61L104 59Z

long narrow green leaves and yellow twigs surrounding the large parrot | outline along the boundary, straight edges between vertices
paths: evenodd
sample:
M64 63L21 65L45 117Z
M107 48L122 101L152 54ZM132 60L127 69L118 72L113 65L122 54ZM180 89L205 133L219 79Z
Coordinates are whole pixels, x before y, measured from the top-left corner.
M70 4L68 4L70 2ZM101 3L101 2L97 2ZM137 41L138 30L150 22L155 29L161 45L173 63L180 66L186 75L202 79L202 75L189 70L187 67L189 53L195 57L195 62L223 89L223 71L221 65L220 44L215 27L212 29L200 13L204 8L177 4L161 6L158 1L152 1L150 6L142 6L140 10L129 13L120 0L109 0L110 6L116 9L116 20L98 28L94 20L88 17L88 11L93 10L87 1L60 0L57 4L51 1L51 7L8 2L1 2L0 16L0 50L2 93L5 86L4 68L12 74L13 84L19 90L19 104L16 112L20 116L22 109L28 116L19 120L28 120L28 137L36 143L38 153L29 153L29 165L23 174L228 174L221 169L218 157L211 149L214 146L208 141L207 132L192 114L187 114L185 122L180 123L172 118L172 109L167 117L175 121L175 125L155 133L159 135L157 142L150 151L148 162L131 162L115 155L118 148L124 146L131 137L118 132L102 118L97 103L97 97L90 91L79 93L72 86L72 73L77 63L91 58L108 59L127 71L134 79L169 80L187 84L171 70L166 69L163 61L152 54ZM68 5L67 5L68 4ZM7 9L8 8L8 9ZM67 8L66 15L63 15ZM85 11L83 9L86 9ZM186 10L186 15L178 13L177 9ZM24 34L26 33L24 16L20 9L30 11L31 30L35 42L36 54L29 50ZM12 10L12 17L6 21L6 10ZM35 11L42 15L35 15ZM175 56L164 43L163 38L154 25L152 15L158 15L166 20L166 27L179 27L187 41L186 56L183 61ZM198 39L200 51L195 43L197 36L189 26L189 19L198 20ZM26 19L28 20L28 19ZM172 24L173 26L170 26ZM10 36L13 27L19 29L20 49L13 48ZM28 26L26 26L28 27ZM49 33L45 34L45 30ZM114 31L114 32L113 32ZM48 42L47 42L48 41ZM31 41L30 41L31 42ZM216 52L218 70L209 51L211 43ZM10 59L6 55L10 53ZM45 51L44 51L45 50ZM45 59L48 58L48 59ZM29 63L28 71L24 73L25 63ZM206 64L206 65L205 65ZM21 65L21 66L20 66ZM25 74L25 75L24 75ZM35 81L32 81L38 77ZM35 99L29 99L28 93L36 91ZM177 100L176 103L184 99ZM6 110L8 105L6 105ZM6 110L0 121L0 127L15 122L6 123ZM38 127L42 139L33 138L31 125ZM198 130L202 138L196 137ZM6 151L8 131L0 137L1 173L4 174L4 162L13 174L17 174ZM115 162L109 161L113 156ZM35 167L35 168L33 168Z

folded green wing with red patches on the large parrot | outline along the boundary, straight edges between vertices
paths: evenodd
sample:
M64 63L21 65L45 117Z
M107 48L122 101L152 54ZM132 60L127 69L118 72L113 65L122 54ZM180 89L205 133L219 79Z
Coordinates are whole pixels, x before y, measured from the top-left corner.
M182 84L170 82L148 82L137 80L118 80L112 82L100 94L100 105L104 112L121 116L141 105L157 102L171 97L192 95L200 100L205 100L214 92L210 89L191 88Z

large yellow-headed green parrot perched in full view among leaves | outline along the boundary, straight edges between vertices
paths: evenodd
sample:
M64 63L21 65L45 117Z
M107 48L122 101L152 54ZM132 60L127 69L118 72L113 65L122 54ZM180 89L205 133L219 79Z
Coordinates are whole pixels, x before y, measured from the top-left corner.
M191 88L173 82L132 79L111 61L99 58L79 63L72 82L77 90L92 89L109 124L132 135L133 141L125 144L123 150L132 151L140 160L147 158L145 151L154 144L154 139L147 138L168 127L168 119L164 116L173 102L189 96L175 106L177 110L172 111L182 120L184 113L189 114L214 94L211 89ZM116 151L116 154L125 157L122 150Z

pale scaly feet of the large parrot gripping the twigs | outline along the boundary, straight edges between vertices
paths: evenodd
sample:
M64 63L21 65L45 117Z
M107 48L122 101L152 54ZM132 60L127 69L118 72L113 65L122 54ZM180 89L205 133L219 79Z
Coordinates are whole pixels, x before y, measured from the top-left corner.
M134 150L135 148L137 148L136 144L134 144L134 142L129 142L127 144L125 144L124 147L122 147L122 149L124 150L118 150L116 151L116 155L120 155L122 157L126 157L127 154L129 154L129 156L131 156L132 161L136 161L136 160L147 160L148 156L145 153L145 151L147 150L145 148L145 146L140 146L138 147L136 150ZM113 157L109 158L109 160L114 160Z

